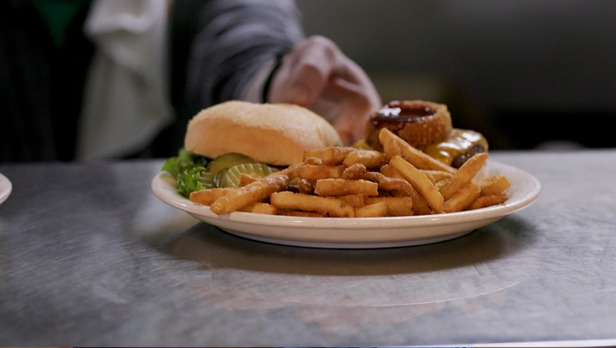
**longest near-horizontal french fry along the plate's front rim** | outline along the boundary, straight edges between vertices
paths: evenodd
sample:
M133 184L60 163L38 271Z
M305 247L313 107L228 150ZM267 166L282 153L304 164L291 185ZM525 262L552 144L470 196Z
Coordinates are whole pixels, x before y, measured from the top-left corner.
M269 197L274 207L278 209L303 210L317 212L333 217L354 217L355 210L345 205L341 200L332 197L312 196L289 191L275 192Z

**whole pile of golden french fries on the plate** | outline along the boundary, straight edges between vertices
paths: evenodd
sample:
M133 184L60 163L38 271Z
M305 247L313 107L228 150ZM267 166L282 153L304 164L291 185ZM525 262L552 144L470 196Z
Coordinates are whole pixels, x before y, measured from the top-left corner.
M444 214L504 203L503 175L476 180L488 157L474 155L456 169L425 155L388 129L384 151L326 148L303 162L259 177L242 174L240 186L191 193L214 214L242 211L314 217Z

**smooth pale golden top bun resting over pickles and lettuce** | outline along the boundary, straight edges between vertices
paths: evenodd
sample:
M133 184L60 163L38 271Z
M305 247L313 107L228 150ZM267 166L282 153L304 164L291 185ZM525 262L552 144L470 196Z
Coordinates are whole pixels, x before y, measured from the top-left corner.
M184 148L196 155L214 158L237 152L275 166L301 162L305 150L340 145L338 132L308 109L240 101L200 111L184 138Z

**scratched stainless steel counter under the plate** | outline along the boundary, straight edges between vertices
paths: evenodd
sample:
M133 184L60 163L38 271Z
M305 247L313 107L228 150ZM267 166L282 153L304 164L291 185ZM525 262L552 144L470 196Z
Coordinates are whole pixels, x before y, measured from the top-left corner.
M0 345L616 344L616 150L490 159L542 196L369 250L228 235L155 198L161 161L0 164Z

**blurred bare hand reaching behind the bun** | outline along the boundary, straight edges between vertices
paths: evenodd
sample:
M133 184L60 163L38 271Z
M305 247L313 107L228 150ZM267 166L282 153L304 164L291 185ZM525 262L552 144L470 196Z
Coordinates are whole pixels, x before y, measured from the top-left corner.
M381 97L368 75L331 40L312 36L287 53L267 100L304 106L328 120L345 145L365 136Z

